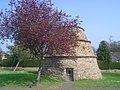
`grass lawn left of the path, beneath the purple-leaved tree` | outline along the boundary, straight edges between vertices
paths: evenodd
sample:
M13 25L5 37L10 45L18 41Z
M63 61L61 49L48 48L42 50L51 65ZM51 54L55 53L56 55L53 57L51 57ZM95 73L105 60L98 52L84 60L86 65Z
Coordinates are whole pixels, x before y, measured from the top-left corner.
M26 87L36 78L36 72L30 71L3 71L0 70L0 87ZM55 87L62 84L63 80L41 76L42 87Z

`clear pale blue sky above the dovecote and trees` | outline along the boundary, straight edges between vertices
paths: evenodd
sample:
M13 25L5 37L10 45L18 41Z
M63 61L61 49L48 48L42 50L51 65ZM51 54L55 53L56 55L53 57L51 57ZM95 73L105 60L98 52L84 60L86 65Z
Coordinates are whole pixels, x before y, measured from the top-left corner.
M8 7L9 0L0 0L0 10ZM92 46L98 48L102 40L120 40L120 0L52 0L54 7L72 15L79 16L81 27ZM6 44L1 45L7 51Z

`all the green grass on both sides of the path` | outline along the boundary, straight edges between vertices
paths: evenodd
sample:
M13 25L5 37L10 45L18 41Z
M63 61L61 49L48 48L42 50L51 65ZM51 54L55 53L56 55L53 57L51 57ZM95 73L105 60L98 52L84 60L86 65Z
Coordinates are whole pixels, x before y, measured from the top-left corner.
M78 80L75 87L120 87L120 73L105 72L100 80ZM0 87L26 87L36 78L36 72L30 71L3 71L0 70ZM47 76L41 76L41 86L53 88L64 83Z

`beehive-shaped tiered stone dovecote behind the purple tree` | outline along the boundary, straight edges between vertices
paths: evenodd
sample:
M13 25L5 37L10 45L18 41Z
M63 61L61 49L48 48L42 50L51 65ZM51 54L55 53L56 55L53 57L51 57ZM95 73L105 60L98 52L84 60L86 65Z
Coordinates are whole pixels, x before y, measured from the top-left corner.
M91 42L87 40L82 28L77 29L80 31L80 39L79 46L76 47L76 59L70 59L65 55L46 57L42 74L67 81L102 78Z

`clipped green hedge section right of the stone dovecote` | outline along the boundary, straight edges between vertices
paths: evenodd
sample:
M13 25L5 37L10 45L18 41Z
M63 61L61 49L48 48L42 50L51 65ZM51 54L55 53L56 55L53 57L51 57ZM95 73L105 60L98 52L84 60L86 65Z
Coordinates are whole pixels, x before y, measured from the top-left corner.
M98 61L99 68L101 70L107 69L120 69L120 62L110 62L109 65L103 61Z

